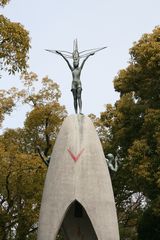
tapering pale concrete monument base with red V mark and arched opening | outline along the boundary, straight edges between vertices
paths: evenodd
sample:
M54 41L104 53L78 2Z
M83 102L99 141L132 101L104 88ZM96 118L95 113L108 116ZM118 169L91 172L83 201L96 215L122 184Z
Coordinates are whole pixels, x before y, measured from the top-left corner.
M119 240L112 184L100 140L83 115L65 119L43 192L38 240Z

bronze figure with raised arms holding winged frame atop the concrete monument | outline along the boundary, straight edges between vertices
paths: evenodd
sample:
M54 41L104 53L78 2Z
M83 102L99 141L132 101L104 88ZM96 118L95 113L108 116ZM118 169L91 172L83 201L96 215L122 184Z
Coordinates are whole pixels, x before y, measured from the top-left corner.
M73 43L73 53L67 52L67 51L46 49L46 51L59 54L61 57L63 57L63 59L67 62L68 66L72 72L73 80L72 80L71 91L73 94L74 109L75 109L76 114L78 112L78 107L79 107L79 113L82 114L82 99L81 99L82 84L81 84L81 80L80 80L82 68L83 68L86 60L90 56L93 56L96 52L103 50L105 48L106 47L89 49L89 50L85 50L82 52L78 52L78 42L77 42L77 39L75 39L74 43ZM67 58L73 59L73 66L70 64L70 62L68 61ZM81 65L79 66L80 58L84 58L84 60L82 61Z

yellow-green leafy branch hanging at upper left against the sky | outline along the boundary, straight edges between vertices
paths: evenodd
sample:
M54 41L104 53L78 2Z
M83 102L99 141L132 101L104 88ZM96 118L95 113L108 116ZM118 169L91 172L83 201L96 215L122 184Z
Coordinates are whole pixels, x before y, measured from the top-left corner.
M2 1L3 4L5 1ZM29 33L20 23L0 15L0 69L14 74L27 67Z

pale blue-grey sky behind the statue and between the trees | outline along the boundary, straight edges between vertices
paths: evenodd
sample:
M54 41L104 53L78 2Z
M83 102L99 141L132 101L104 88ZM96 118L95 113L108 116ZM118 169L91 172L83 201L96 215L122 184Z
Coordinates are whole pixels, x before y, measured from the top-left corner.
M133 42L160 24L159 9L159 0L11 0L0 11L29 31L29 71L60 85L60 102L69 114L74 114L70 69L60 56L44 49L71 52L75 38L79 51L108 46L87 60L81 74L83 113L99 116L105 104L118 100L113 80L127 67ZM0 89L22 87L18 74L2 76ZM22 127L26 111L19 106L5 118L3 129Z

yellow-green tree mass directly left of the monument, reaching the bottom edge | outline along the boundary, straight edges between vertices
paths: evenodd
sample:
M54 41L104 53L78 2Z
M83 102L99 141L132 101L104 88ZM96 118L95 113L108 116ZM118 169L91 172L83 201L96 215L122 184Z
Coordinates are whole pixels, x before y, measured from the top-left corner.
M59 104L59 86L35 73L23 76L24 89L16 96L29 104L23 128L7 129L0 136L0 240L35 240L46 166L36 147L50 155L66 117Z

